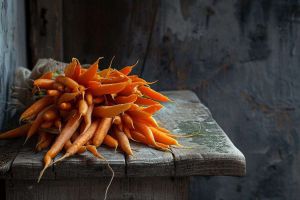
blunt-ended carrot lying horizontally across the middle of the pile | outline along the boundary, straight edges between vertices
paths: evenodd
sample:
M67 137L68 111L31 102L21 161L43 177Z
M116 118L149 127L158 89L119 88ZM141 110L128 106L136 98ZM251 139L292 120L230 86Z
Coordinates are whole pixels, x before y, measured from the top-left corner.
M113 106L98 106L94 108L93 115L95 117L114 117L128 110L131 105L131 103L125 103Z

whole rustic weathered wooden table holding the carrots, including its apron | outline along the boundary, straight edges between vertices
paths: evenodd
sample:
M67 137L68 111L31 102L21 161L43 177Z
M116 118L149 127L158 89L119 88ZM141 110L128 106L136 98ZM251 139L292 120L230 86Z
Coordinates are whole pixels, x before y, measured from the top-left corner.
M132 143L132 157L100 147L116 175L108 199L187 199L190 176L245 175L245 157L197 96L186 90L164 93L175 102L167 103L156 119L173 133L194 136L180 138L184 148L172 152ZM86 152L52 166L37 183L44 152L33 153L22 142L0 143L7 199L103 199L111 176L104 161Z

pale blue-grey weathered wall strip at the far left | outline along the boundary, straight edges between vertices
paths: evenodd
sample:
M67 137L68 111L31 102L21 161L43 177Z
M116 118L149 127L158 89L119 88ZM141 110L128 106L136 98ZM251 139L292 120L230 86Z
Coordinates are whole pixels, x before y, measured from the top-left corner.
M17 66L26 66L25 1L0 0L0 127L12 106L8 89Z

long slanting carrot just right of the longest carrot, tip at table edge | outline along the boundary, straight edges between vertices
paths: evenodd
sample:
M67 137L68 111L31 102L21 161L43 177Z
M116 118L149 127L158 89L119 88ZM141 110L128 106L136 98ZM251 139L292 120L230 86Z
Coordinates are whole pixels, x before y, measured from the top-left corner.
M60 162L67 157L70 157L78 152L81 146L83 146L89 139L91 139L97 129L98 122L95 121L91 124L88 130L78 136L78 138L73 142L73 144L67 149L66 153L56 160L54 163Z

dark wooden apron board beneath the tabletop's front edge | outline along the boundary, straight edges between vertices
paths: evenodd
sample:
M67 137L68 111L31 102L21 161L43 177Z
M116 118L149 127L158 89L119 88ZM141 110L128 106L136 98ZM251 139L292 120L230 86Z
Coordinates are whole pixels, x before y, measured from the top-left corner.
M7 180L7 200L84 200L104 199L108 178L43 180ZM116 178L108 199L188 199L188 178L144 177Z

